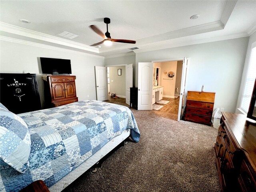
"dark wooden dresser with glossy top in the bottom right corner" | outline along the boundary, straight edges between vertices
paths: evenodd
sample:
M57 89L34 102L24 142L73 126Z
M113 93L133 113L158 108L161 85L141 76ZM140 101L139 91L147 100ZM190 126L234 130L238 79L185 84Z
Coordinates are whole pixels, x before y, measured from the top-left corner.
M255 192L255 121L246 115L222 112L214 148L222 191Z

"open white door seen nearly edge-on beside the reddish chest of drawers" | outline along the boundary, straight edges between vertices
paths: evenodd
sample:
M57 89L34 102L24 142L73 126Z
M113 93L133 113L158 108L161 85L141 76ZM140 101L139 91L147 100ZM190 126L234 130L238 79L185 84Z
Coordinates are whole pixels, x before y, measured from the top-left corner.
M186 57L183 58L182 63L182 76L181 76L181 85L180 85L180 102L179 102L179 110L178 110L178 121L182 118L184 108L185 108L185 93L186 93L186 78L188 75L188 59Z

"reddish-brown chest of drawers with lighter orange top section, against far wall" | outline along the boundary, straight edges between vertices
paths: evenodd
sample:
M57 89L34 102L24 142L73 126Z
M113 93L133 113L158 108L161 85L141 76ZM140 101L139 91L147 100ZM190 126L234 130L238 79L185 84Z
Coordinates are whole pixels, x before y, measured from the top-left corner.
M188 91L185 121L211 125L214 92Z

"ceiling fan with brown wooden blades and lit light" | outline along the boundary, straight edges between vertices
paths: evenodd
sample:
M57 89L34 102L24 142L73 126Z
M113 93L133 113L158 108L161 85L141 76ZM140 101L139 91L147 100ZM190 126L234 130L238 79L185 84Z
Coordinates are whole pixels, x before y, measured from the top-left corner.
M99 30L98 27L96 27L95 25L90 25L90 28L92 28L92 30L94 30L94 32L96 32L98 35L100 35L104 40L95 44L92 44L91 46L96 46L99 44L106 44L106 45L111 45L112 42L120 42L120 43L132 43L135 44L136 41L133 40L126 40L126 39L112 39L110 36L110 33L108 32L108 24L110 24L110 18L105 17L104 18L104 23L107 24L107 32L104 34L101 32L101 30Z

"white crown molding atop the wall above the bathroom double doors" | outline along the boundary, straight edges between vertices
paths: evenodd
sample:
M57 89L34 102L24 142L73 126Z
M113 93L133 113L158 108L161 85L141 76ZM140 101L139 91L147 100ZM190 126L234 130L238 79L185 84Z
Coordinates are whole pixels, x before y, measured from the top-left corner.
M148 51L155 51L155 50L161 50L161 49L167 49L167 48L175 48L175 47L188 46L188 45L194 45L194 44L222 41L222 40L235 39L235 38L241 38L241 37L247 37L247 36L248 36L247 33L239 33L239 34L231 34L231 35L226 35L226 36L205 38L205 39L200 39L200 40L193 40L191 38L190 40L183 40L180 42L166 41L165 45L159 45L159 46L155 46L154 44L147 45L146 46L147 48L145 48L145 49L141 48L141 50L134 50L134 52L137 54L137 53L148 52Z

